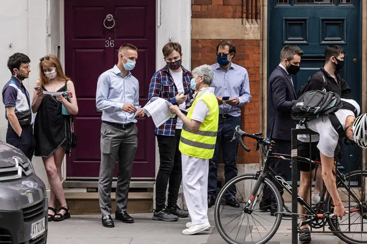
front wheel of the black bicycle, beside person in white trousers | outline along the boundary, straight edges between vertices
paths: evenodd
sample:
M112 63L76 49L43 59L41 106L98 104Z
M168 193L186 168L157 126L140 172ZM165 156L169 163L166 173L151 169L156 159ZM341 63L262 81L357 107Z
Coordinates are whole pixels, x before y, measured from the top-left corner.
M282 211L282 201L278 189L265 178L258 189L258 199L252 210L248 202L258 177L246 174L230 180L219 192L215 202L214 220L219 234L229 244L264 244L276 233L282 214L271 215L268 210L272 206L271 198L275 197L277 212ZM268 188L264 195L264 189ZM227 200L235 197L239 207L227 204ZM225 204L222 205L221 203ZM274 205L275 205L274 204Z

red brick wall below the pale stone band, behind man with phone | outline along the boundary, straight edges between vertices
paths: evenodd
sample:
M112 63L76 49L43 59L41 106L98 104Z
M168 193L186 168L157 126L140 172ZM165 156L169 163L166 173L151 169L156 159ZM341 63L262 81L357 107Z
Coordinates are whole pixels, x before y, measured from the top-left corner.
M201 64L216 63L216 46L220 40L191 40L191 67ZM260 41L259 40L230 40L236 46L236 56L233 62L245 67L249 73L251 102L242 107L242 128L248 133L260 131ZM254 149L256 144L246 139L246 145ZM238 150L238 163L258 163L258 152L248 153L242 148Z

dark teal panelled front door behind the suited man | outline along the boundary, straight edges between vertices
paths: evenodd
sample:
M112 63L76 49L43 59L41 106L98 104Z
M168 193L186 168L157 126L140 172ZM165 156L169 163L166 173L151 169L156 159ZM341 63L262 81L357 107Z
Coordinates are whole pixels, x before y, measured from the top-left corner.
M360 0L269 0L268 78L279 64L280 50L287 44L298 45L304 51L300 71L293 77L298 91L324 65L327 45L340 45L346 52L341 76L352 89L351 99L362 105L361 9ZM339 168L360 168L362 153L357 146L349 152L344 146L343 155Z

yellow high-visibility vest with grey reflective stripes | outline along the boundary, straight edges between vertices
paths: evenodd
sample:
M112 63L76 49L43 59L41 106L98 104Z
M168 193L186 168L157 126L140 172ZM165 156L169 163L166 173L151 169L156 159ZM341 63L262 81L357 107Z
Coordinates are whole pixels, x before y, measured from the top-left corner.
M198 94L198 96L199 97L196 97L195 101L192 103L187 118L191 119L196 102L201 100L206 103L206 106L210 110L210 114L206 116L197 132L192 132L185 125L183 126L179 149L181 153L191 157L211 159L214 154L215 142L217 140L219 121L218 101L212 93L204 92L203 95Z

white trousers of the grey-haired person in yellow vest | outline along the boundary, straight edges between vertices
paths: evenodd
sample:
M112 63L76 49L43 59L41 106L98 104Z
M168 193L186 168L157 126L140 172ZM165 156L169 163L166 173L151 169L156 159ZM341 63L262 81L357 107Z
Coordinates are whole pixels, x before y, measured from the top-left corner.
M209 160L182 154L182 185L192 224L206 224Z

